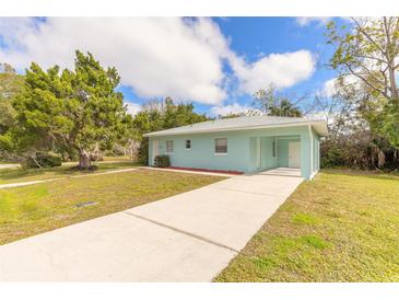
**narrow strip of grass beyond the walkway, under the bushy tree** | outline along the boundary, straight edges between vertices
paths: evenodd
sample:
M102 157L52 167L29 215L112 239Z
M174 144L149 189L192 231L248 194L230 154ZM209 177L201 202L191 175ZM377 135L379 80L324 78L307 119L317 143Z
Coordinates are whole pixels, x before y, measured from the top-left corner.
M73 164L44 168L44 169L0 169L0 184L42 181L55 177L66 177L72 175L91 174L118 169L128 169L139 165L131 161L93 163L98 166L95 171L78 171L72 169Z

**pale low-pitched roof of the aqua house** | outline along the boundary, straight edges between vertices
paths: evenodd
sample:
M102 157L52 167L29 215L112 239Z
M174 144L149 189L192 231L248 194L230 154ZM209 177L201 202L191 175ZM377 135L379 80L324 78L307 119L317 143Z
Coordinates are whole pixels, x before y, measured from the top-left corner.
M310 125L320 136L326 136L328 134L327 122L325 119L277 116L245 116L196 123L192 125L145 134L144 137L162 137L174 135L234 131L306 125Z

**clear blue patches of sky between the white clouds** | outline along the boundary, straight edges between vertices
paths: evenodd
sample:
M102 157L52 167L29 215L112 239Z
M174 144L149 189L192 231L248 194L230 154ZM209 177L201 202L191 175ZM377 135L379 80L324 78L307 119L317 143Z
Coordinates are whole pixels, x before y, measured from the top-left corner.
M271 53L291 53L300 49L307 49L317 57L314 73L307 80L291 88L281 89L279 92L283 94L297 96L312 94L315 91L321 91L325 82L336 77L336 71L326 66L333 48L326 43L325 21L308 21L300 25L295 18L214 18L213 20L222 33L230 38L232 49L245 56L249 62ZM340 19L333 21L343 23ZM228 67L225 70L228 71ZM139 103L146 101L127 86L122 86L121 91L128 99L134 99ZM249 94L230 95L225 103L250 105L251 101L253 96ZM211 106L195 103L195 107L199 113L209 113Z

